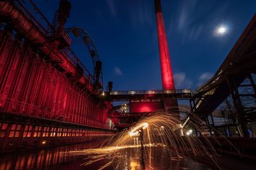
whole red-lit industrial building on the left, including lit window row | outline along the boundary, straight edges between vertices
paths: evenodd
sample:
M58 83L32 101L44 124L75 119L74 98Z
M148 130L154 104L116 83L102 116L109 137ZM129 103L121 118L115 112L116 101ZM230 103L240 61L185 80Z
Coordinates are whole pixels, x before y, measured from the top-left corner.
M102 82L97 51L90 48L94 74L86 72L74 52L70 55L71 40L63 29L70 7L61 1L58 27L46 31L23 3L0 2L1 152L115 133L108 119L111 103L98 97Z

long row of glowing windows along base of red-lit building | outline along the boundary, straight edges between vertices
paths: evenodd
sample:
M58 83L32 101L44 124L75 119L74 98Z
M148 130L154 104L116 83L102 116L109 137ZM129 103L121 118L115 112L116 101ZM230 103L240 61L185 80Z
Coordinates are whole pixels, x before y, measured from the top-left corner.
M0 138L6 136L6 130L9 124L0 123ZM9 138L20 136L22 125L10 124L11 130ZM68 129L61 127L42 127L35 125L25 125L22 137L65 137L65 136L111 136L113 132L89 131L84 129Z

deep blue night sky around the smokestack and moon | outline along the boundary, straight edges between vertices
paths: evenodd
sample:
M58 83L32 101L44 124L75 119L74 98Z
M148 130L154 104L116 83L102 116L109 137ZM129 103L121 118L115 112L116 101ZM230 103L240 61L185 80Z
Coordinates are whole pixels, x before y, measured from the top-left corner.
M52 20L59 1L35 0ZM72 1L66 27L84 27L103 62L105 87L113 90L161 89L153 0ZM162 0L176 89L195 89L216 72L253 17L255 0ZM225 25L227 32L214 32ZM92 69L82 41L75 52Z

